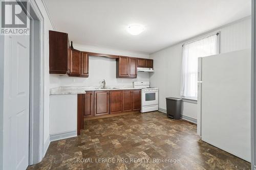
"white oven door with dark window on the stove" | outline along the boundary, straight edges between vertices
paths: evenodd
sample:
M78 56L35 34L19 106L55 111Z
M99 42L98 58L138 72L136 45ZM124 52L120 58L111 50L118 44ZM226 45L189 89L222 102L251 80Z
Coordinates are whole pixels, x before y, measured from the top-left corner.
M142 90L142 106L158 105L158 90Z

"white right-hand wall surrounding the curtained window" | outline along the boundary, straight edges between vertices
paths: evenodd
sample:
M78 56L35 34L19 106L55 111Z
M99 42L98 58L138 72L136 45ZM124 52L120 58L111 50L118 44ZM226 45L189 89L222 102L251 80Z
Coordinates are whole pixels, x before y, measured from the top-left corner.
M153 87L159 87L159 108L166 109L165 98L180 98L182 44L201 36L220 31L220 53L250 48L251 18L246 17L208 33L182 41L150 55L155 72L150 76ZM182 114L197 119L197 104L183 102Z

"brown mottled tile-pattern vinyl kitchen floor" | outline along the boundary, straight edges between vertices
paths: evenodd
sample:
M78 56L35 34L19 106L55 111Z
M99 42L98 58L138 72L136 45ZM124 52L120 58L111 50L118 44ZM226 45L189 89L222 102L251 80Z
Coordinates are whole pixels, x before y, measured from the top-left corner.
M53 141L28 169L250 169L202 140L197 126L155 111L84 121L77 137Z

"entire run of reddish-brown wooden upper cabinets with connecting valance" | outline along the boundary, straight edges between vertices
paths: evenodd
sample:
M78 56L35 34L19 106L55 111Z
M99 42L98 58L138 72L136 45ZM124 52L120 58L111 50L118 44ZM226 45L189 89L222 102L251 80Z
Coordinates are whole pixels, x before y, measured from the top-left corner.
M70 47L67 33L49 31L50 74L89 77L89 54L116 58L117 78L137 78L137 67L153 68L153 60L151 59L80 52Z

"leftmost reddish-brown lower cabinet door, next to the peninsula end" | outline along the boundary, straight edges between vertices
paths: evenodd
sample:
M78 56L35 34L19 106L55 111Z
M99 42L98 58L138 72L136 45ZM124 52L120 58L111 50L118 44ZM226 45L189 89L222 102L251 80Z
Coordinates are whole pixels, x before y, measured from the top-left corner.
M91 117L94 115L94 91L87 91L83 96L83 116Z

